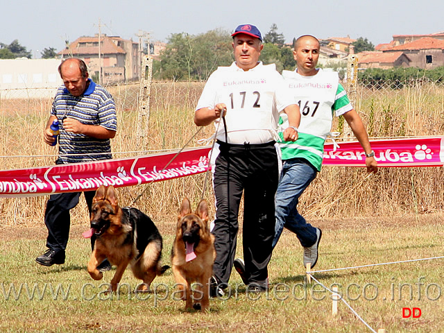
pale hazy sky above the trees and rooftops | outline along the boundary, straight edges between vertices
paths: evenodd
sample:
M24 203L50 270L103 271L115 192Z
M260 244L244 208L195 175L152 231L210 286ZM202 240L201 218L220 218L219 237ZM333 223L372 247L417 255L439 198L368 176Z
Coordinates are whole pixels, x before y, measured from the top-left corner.
M137 33L166 42L172 33L191 35L215 28L233 31L255 24L265 34L278 25L287 42L303 34L318 38L366 37L377 45L393 35L444 31L444 1L395 0L1 0L0 42L12 40L40 58L42 49L60 51L65 40L101 31L137 41ZM339 4L340 3L340 4ZM38 51L37 51L38 50Z

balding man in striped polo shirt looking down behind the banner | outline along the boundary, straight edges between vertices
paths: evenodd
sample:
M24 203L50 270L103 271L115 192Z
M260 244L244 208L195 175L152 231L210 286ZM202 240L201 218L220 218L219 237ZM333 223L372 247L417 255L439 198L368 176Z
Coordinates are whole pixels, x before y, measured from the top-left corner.
M56 164L108 160L111 158L110 139L116 135L117 116L112 96L88 78L85 62L76 58L63 61L58 67L64 86L58 88L51 116L44 131L44 142L50 146L53 137L50 126L60 123L59 157ZM80 154L80 155L79 155ZM46 247L35 260L43 266L65 263L69 237L69 210L76 207L82 192L53 194L46 203L44 223L48 228ZM95 191L85 191L89 214ZM92 247L95 237L92 238ZM105 269L110 268L104 262Z

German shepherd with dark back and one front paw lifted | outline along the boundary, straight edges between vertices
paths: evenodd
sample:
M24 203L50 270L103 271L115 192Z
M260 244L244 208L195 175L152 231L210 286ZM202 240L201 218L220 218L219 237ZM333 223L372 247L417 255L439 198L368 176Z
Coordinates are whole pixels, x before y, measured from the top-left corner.
M97 266L108 258L117 265L111 280L111 291L117 291L123 272L130 264L134 276L143 280L137 291L150 291L156 275L169 266L160 266L162 237L153 221L133 207L119 207L114 187L101 186L92 200L91 230L84 237L96 235L96 242L88 263L88 273L101 280L103 273Z

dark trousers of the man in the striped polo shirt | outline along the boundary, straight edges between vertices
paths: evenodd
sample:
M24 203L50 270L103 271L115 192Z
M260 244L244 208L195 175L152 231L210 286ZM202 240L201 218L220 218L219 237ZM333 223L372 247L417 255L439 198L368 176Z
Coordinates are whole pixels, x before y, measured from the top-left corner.
M88 206L89 216L91 215L92 198L96 191L85 191L85 200ZM65 252L69 238L69 227L71 226L71 216L69 210L76 207L82 192L51 194L46 203L44 212L44 224L48 228L48 238L46 246L56 252ZM91 237L91 248L94 248L96 237Z

